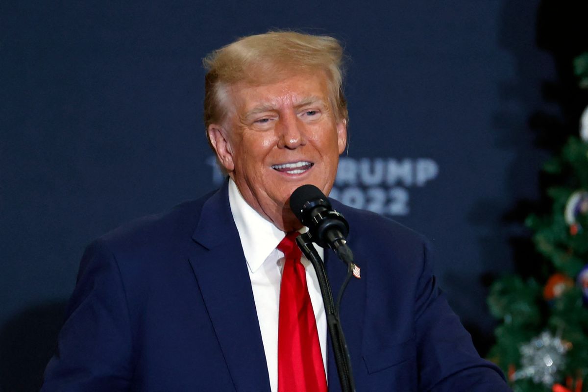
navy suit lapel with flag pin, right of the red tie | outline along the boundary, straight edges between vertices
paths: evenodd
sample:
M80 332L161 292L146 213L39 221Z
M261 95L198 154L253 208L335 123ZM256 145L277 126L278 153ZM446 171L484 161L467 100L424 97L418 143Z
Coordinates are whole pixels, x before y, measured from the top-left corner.
M352 237L348 237L348 243L352 250L353 243L351 242ZM356 260L360 267L363 267L362 262ZM325 266L333 297L336 298L339 294L339 289L345 280L347 274L347 267L341 262L332 250L325 249ZM363 317L365 307L365 284L366 279L363 274L362 279L356 279L352 277L349 281L345 293L343 293L343 299L341 300L340 319L343 327L343 333L345 334L345 340L349 350L349 356L351 358L351 366L353 371L353 377L355 378L355 385L360 390L360 386L366 385L363 380L363 361L362 361L362 337L363 337ZM337 371L337 365L335 363L335 356L333 354L332 341L328 339L328 384L329 392L340 391L341 386L339 383L339 373Z

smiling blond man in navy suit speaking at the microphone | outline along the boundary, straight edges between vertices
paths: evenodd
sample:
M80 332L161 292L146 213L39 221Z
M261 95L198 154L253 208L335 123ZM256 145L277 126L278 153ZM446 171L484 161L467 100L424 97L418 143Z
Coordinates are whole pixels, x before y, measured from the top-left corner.
M88 247L43 391L340 390L288 200L308 183L328 194L335 180L348 123L341 59L335 39L293 32L205 59L206 131L228 180ZM357 390L509 390L439 293L423 238L333 206L362 267L341 309ZM339 287L345 267L318 251Z

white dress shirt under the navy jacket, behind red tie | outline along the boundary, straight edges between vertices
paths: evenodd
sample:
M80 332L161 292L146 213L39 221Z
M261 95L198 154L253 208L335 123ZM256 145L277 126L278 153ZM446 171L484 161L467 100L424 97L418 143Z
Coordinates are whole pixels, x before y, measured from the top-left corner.
M276 246L286 234L248 205L233 180L229 180L229 203L251 279L263 350L268 363L269 384L272 392L278 392L278 314L284 254L276 249ZM306 230L308 228L304 227L300 232L303 233ZM316 246L316 250L320 258L324 259L322 247ZM320 295L319 282L314 267L304 255L300 261L306 269L308 293L312 309L315 312L320 352L323 356L326 374L327 321L325 306Z

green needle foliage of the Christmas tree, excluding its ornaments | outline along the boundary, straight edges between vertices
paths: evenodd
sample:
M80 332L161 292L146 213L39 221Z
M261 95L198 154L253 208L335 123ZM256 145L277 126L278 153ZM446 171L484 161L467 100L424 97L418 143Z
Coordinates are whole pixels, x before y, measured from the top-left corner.
M588 52L573 62L574 73L582 88L588 88ZM520 347L542 331L550 331L569 343L564 363L559 364L557 383L573 383L580 377L588 387L588 304L582 290L570 282L588 264L588 213L574 217L573 227L566 222L565 210L570 196L588 191L588 142L577 137L567 140L559 155L547 160L544 172L554 183L547 195L552 211L546 215L530 215L525 224L533 230L533 243L545 259L527 260L533 263L535 277L523 280L512 275L497 280L490 288L487 303L490 312L500 320L495 330L496 344L489 359L505 374L522 367ZM549 273L568 276L567 289L559 296L544 293ZM549 290L547 290L549 292ZM551 391L529 379L511 383L515 392Z

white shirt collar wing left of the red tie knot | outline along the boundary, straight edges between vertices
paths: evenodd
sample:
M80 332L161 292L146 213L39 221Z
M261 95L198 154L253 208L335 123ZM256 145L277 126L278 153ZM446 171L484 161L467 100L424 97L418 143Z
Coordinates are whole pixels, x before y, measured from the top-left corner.
M243 199L232 179L229 179L229 205L239 232L247 266L252 273L255 273L276 249L285 234L272 222L259 215Z

